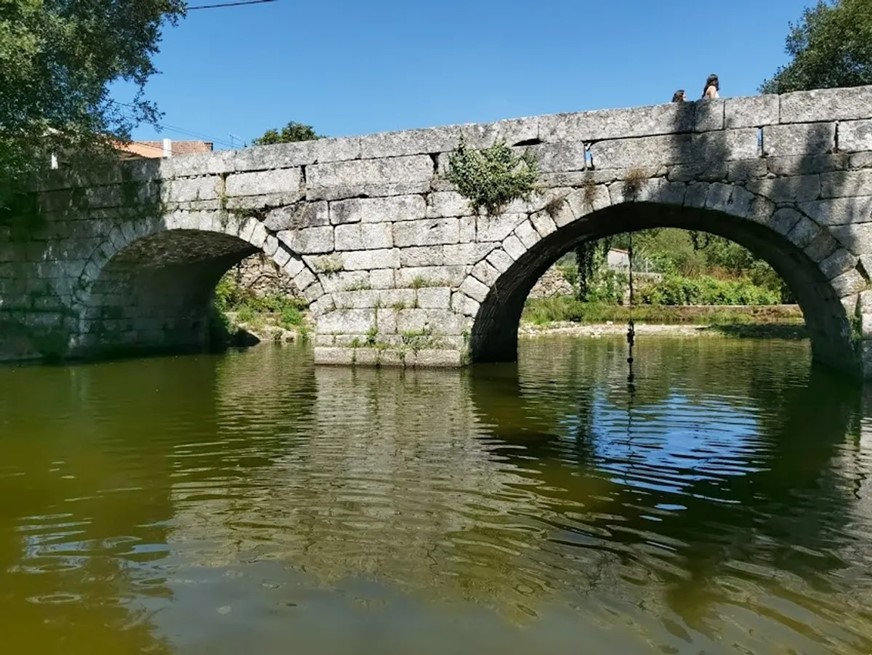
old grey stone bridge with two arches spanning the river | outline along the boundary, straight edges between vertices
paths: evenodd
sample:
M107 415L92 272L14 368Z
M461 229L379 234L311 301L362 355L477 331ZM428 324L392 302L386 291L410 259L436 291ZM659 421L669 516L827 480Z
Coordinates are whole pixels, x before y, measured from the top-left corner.
M460 138L538 158L540 189L476 215ZM654 227L764 258L814 358L872 377L872 87L558 114L57 172L0 226L6 359L202 347L216 282L263 251L311 303L324 364L512 360L563 253Z

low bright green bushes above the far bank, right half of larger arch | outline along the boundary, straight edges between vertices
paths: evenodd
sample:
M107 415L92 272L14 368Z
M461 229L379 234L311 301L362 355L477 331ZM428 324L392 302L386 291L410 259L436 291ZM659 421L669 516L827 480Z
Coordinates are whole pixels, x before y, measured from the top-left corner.
M719 280L707 275L669 275L639 289L640 303L648 305L777 305L780 294L747 279Z

